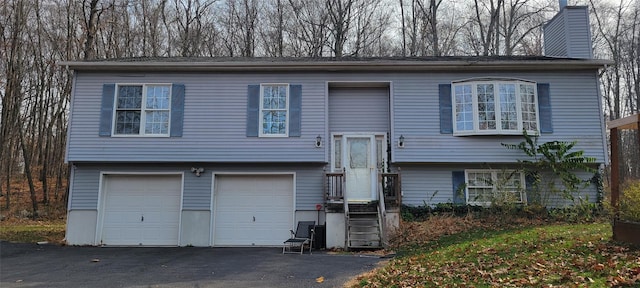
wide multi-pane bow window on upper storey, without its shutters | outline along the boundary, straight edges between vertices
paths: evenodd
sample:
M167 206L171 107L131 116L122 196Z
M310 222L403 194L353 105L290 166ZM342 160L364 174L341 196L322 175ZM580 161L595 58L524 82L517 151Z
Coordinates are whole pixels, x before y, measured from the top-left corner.
M454 134L538 132L535 83L463 81L453 83L452 88Z

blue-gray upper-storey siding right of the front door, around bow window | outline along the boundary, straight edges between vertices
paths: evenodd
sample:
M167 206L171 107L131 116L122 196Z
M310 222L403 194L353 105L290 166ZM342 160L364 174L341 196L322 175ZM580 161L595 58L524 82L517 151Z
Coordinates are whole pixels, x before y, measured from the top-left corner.
M524 159L521 152L507 150L501 143L519 143L513 136L453 136L441 134L438 107L438 84L477 77L477 74L429 74L405 77L394 82L394 139L405 137L405 147L392 145L392 160L396 163L513 163ZM575 149L605 159L602 135L602 114L599 110L597 75L595 71L573 72L570 75L548 73L483 73L486 77L514 77L549 83L553 133L542 134L540 143L574 141Z

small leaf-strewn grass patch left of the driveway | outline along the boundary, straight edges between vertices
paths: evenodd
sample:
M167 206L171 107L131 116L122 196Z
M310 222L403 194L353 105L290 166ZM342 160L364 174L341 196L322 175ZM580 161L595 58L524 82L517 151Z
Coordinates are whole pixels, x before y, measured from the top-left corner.
M0 224L0 240L11 242L36 243L46 241L62 244L64 234L64 221L2 222Z

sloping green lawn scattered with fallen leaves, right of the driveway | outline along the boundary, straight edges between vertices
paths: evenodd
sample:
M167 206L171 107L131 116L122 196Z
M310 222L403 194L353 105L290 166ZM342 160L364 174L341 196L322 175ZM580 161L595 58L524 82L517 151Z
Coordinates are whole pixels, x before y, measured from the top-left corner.
M640 250L610 239L603 223L475 229L404 247L352 287L640 286Z

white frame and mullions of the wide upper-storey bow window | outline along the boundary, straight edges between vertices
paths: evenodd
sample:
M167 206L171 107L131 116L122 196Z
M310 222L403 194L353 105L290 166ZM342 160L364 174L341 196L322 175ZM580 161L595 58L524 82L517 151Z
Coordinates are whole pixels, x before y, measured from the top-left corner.
M480 129L480 113L478 110L478 85L492 84L494 91L494 113L496 129ZM471 85L471 98L473 103L473 129L472 130L458 130L458 122L456 120L457 103L456 103L456 87ZM502 128L502 113L499 87L500 85L515 85L515 98L516 98L516 113L517 113L517 128L515 130ZM536 129L527 130L527 133L535 135L540 131L540 110L538 108L538 88L536 82L520 80L520 79L468 79L461 81L454 81L451 84L451 103L452 103L452 121L453 121L453 135L455 136L468 136L468 135L521 135L524 128L523 121L523 109L522 109L522 97L520 94L520 85L531 85L534 93L534 108L536 114Z

